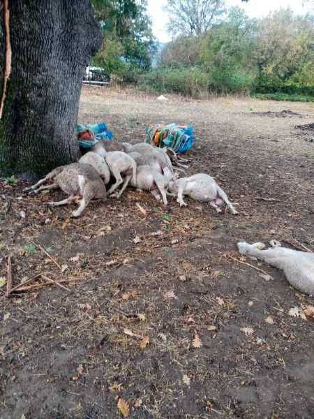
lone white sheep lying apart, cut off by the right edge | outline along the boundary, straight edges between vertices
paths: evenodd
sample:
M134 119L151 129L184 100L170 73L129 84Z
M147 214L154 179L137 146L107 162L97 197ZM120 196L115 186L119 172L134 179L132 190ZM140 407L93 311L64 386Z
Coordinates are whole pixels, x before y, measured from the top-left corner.
M314 295L314 253L280 247L271 241L271 249L264 249L264 243L248 244L239 242L238 249L243 255L264 260L269 265L283 270L287 281L302 293Z

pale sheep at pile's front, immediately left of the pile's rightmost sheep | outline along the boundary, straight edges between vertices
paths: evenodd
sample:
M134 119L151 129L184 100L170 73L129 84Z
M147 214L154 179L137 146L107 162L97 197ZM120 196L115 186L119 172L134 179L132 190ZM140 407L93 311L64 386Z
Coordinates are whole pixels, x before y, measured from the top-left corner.
M156 168L151 168L151 166L138 166L136 176L130 179L130 185L142 191L151 191L157 200L160 200L161 195L164 205L167 205L166 190L172 179L173 175L169 168L165 168L161 175Z

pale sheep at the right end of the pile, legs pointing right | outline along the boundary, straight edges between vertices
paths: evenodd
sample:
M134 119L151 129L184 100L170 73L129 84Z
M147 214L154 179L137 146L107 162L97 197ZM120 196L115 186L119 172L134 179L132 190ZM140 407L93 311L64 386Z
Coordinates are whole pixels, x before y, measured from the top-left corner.
M175 196L173 193L177 194L177 203L180 204L180 207L187 205L183 199L183 196L186 195L195 200L209 202L209 205L214 207L217 212L221 212L220 207L226 203L232 214L238 214L223 189L216 184L215 179L204 173L174 180L170 182L168 190L172 196Z

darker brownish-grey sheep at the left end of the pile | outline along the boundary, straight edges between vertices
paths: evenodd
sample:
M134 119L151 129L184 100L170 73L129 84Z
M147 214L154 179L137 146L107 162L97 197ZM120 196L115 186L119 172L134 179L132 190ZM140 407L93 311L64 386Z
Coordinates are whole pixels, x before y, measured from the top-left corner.
M53 179L54 183L47 186L40 186L49 179ZM82 197L80 206L72 213L75 217L82 214L84 208L89 205L89 202L93 198L98 198L103 201L106 200L106 189L103 180L95 168L85 163L71 163L66 166L60 166L48 173L37 184L25 190L31 189L33 193L38 193L43 189L51 190L58 188L67 193L69 197L59 202L50 202L48 204L57 207L73 202L78 203L78 200Z

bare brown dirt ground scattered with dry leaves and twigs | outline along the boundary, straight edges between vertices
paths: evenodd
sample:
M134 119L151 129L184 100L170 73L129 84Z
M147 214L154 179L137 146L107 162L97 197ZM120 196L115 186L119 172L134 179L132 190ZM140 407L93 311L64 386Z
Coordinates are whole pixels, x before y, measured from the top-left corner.
M80 122L126 141L193 124L188 172L214 175L241 214L130 189L71 219L46 205L62 193L1 182L1 419L314 418L313 297L236 248L314 249L313 133L294 128L313 104L169 97L84 88ZM43 277L6 298L9 255L13 286Z

